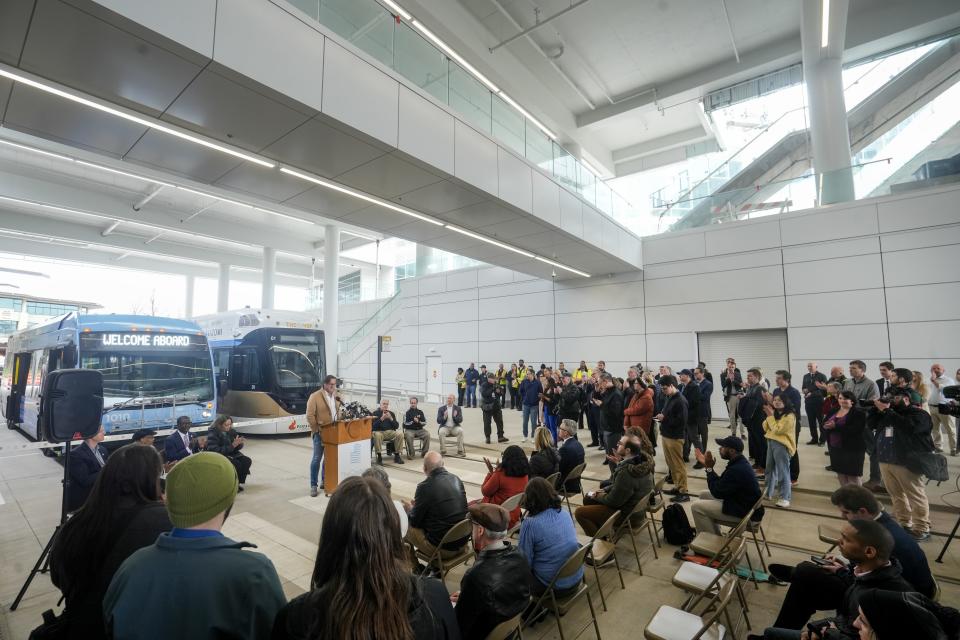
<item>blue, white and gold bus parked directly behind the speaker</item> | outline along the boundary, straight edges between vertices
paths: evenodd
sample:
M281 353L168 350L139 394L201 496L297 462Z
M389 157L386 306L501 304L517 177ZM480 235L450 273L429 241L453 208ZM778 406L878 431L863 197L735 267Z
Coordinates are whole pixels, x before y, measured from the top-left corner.
M326 375L322 323L314 314L242 309L195 319L210 347L218 410L240 433L309 430L307 398Z

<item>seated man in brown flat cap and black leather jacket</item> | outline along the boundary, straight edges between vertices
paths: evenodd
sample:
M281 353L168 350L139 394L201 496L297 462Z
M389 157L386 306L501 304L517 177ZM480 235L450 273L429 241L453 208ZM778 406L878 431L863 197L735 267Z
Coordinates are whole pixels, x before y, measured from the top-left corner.
M506 509L475 504L469 511L477 560L450 600L456 603L463 640L484 640L498 624L527 608L530 584L524 577L530 574L530 565L507 540L510 514Z

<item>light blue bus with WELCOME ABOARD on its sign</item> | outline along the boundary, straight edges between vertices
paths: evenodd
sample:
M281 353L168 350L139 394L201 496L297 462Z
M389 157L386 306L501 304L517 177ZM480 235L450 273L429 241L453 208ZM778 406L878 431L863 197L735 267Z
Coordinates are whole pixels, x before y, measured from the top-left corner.
M70 368L103 374L107 434L169 429L179 416L189 416L196 426L213 420L213 360L198 325L70 313L10 336L0 385L7 426L41 439L37 418L43 380L50 371Z

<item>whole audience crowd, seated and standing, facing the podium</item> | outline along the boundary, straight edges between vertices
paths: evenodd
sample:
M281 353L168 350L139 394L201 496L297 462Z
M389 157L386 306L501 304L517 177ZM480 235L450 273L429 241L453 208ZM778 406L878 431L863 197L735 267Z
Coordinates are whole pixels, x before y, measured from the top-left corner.
M573 372L562 363L537 372L521 361L499 367L484 383L487 372L468 375L470 367L463 372L462 397L450 395L433 424L416 398L402 426L384 400L374 414L378 464L332 493L310 589L289 602L270 560L221 532L250 470L241 453L244 440L228 416L218 416L199 438L191 435L189 418L181 418L162 456L155 433L138 432L111 455L101 432L71 456L71 478L82 481L69 496L74 513L51 550L51 577L65 596L63 621L72 634L65 637L137 638L148 628L155 637L480 639L518 615L533 623L544 611L531 603L548 587L563 598L584 582L582 567L554 581L580 546L577 525L592 536L655 490L658 446L672 485L664 493L674 502L691 499L691 455L693 467L705 470L707 490L690 505L698 532L719 534L751 512L763 518L763 507L755 509L761 496L789 506L799 473L801 406L819 410L808 421L806 444L823 445L837 474L831 502L844 522L839 553L796 566L771 564L771 575L789 587L774 623L752 638L956 637L951 625L960 614L934 602L936 583L918 544L929 537L930 524L923 468L914 460L939 450L931 403L938 428L948 428L947 442L955 447L946 398L925 398L923 380L890 363L884 385L869 380L860 361L850 363L849 380L838 367L830 378L817 375L810 363L797 390L788 371L777 371L771 384L756 367L742 376L731 358L717 382L733 417L729 433L711 442L704 414L714 379L699 364L678 376L667 366L654 374L638 365L619 379L602 361L593 369L581 362ZM935 365L931 384L937 380L938 392L952 383ZM478 384L502 391L481 388L477 394ZM318 425L337 416L334 391L326 404L314 406ZM496 407L489 407L491 397ZM497 414L502 429L507 397L510 408L524 414L524 440L532 436L532 451L528 457L511 445L497 460L484 458L482 498L468 503L464 483L444 464L448 438L455 439L458 455L465 454L458 401L478 402L489 441ZM707 423L711 417L706 413ZM433 429L440 451L430 448ZM581 430L590 433L589 443L580 442ZM380 465L383 447L392 445L394 462L403 464L404 450L413 459L417 440L424 478L413 500L394 500ZM585 462L584 448L591 446L604 452L609 477L586 491L571 515L562 495L581 493L582 484L579 477L565 478ZM892 514L876 498L879 485L861 482L868 458L879 467ZM512 500L520 495L522 511ZM501 506L508 501L511 511ZM452 539L448 534L464 521L470 529L457 528L462 536ZM442 581L443 561L470 549L473 564L451 594ZM190 615L178 613L184 603ZM907 630L894 635L893 628Z

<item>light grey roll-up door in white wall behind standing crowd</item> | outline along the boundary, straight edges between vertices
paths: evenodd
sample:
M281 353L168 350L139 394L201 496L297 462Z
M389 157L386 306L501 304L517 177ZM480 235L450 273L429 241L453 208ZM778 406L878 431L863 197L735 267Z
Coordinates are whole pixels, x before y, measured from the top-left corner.
M720 375L727 367L727 358L737 361L737 368L747 378L747 369L759 367L765 378L773 384L777 369L789 369L786 329L763 329L757 331L716 331L697 334L700 360L713 374L714 392L711 398L714 420L727 417L723 402ZM799 385L799 380L796 382ZM796 385L794 385L796 386Z

